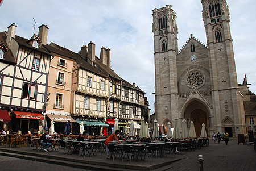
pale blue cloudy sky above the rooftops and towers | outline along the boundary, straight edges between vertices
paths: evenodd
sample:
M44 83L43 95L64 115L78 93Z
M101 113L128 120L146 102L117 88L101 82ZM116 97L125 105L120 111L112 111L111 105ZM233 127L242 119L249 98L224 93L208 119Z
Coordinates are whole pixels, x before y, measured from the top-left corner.
M256 1L227 0L233 39L237 81L251 85L256 93ZM154 41L152 10L172 5L179 28L179 49L193 34L207 44L200 0L4 0L0 7L0 32L15 23L16 35L30 39L37 27L49 27L47 43L56 43L73 52L92 41L96 56L103 46L111 50L111 68L121 78L146 93L154 113ZM33 19L34 18L34 19Z

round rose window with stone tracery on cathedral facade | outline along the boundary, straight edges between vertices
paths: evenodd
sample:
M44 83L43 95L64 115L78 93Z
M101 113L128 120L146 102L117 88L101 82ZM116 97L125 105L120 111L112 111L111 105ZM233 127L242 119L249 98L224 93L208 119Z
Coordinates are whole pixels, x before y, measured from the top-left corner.
M199 71L193 71L188 74L187 83L191 87L201 87L204 84L204 75Z

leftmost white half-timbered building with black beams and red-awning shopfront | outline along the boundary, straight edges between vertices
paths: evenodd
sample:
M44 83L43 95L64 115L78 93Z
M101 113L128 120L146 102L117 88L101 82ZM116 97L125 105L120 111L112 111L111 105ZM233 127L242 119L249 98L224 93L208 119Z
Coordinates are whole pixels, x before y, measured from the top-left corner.
M0 106L11 117L6 129L22 134L37 131L46 110L51 54L42 43L43 29L48 27L40 26L29 40L15 35L14 23L0 33Z

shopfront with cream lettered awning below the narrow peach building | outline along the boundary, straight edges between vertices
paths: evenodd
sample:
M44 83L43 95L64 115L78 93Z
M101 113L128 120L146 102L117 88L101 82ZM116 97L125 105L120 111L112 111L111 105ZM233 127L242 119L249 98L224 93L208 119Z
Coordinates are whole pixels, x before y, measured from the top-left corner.
M46 114L48 116L47 118L47 127L49 129L49 126L51 125L51 120L54 121L54 130L57 132L57 134L60 134L62 132L64 134L65 126L68 122L68 120L71 123L76 123L76 121L69 115L57 115L57 114ZM72 126L72 124L71 124ZM71 127L72 130L72 127Z

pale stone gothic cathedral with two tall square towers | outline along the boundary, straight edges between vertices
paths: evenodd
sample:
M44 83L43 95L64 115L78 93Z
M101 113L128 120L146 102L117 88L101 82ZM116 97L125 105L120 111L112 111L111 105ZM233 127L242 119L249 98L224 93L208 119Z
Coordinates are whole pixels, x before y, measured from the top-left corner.
M207 35L204 45L191 34L179 52L176 14L171 5L153 10L155 114L159 124L174 119L195 124L200 136L227 131L246 132L242 94L238 89L229 7L226 0L201 0Z

